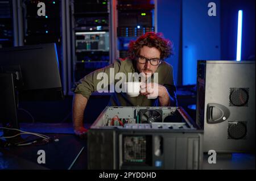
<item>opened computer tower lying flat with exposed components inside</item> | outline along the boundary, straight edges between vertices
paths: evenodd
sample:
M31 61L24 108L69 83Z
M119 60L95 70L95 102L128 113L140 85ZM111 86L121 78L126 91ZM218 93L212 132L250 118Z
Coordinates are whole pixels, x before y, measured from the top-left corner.
M88 169L202 169L194 125L181 107L106 107L87 133Z

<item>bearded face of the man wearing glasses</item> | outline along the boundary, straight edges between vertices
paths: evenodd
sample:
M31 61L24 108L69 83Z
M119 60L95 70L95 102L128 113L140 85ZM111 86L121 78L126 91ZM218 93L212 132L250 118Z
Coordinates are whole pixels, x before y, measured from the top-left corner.
M138 55L148 58L148 59L151 59L151 58L160 59L160 51L155 47L150 48L147 46L143 46L141 49L141 52L139 52ZM139 73L146 74L146 77L154 74L156 69L158 69L158 66L159 65L151 65L150 61L146 61L146 64L140 64L137 61L137 69L138 69Z

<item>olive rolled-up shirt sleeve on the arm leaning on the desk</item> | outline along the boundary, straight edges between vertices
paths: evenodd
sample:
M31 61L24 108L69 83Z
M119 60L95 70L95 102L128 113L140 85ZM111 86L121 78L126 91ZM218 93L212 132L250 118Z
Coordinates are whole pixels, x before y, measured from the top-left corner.
M114 68L114 70L112 69ZM114 71L114 75L118 73L121 69L121 60L115 60L113 64L106 66L105 68L98 69L92 73L86 75L84 78L81 78L78 82L74 83L72 91L75 94L81 94L85 98L89 99L92 92L97 91L97 84L102 81L100 73L105 73L108 75L108 82L105 85L110 84L110 71ZM98 78L97 76L100 75ZM106 81L106 79L105 79Z

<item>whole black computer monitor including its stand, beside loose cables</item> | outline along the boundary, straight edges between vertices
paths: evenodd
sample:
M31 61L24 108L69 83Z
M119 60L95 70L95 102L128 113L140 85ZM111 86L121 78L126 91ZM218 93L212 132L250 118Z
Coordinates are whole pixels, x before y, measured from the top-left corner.
M0 49L0 123L19 129L18 100L63 99L56 45ZM4 132L13 136L14 132Z

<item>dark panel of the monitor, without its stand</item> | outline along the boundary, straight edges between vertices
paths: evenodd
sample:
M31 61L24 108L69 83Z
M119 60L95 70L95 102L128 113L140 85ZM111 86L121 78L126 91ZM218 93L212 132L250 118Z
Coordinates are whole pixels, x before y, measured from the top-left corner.
M19 99L63 98L54 43L0 49L0 57L0 73L14 73L19 79Z

